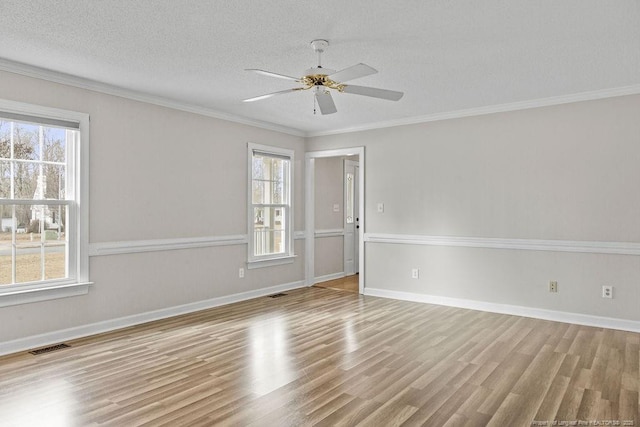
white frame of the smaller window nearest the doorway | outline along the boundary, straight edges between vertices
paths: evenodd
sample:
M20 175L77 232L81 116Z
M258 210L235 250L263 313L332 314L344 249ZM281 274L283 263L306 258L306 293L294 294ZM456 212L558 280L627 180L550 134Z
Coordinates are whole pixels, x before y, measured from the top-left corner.
M254 204L253 204L253 154L259 152L265 155L273 155L274 157L287 157L289 159L289 177L288 177L288 215L285 216L285 252L284 254L269 254L256 256L255 251L255 229L254 229ZM293 249L293 216L294 216L294 200L293 200L293 177L294 175L294 151L287 148L273 147L260 144L247 144L247 268L260 268L272 265L281 265L292 263L295 259Z

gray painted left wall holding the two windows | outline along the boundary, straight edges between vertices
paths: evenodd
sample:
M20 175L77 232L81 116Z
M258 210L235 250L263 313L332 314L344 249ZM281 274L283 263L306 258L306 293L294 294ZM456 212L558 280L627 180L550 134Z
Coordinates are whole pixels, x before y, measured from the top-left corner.
M304 229L301 137L7 72L0 94L90 114L90 244L246 234L247 142L295 150ZM87 295L0 308L0 342L302 281L303 249L244 279L246 245L91 257Z

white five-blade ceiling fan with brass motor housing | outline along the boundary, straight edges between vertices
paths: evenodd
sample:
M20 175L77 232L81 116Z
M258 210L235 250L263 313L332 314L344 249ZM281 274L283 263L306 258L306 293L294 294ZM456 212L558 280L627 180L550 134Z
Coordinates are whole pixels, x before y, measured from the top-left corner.
M329 46L329 42L326 40L313 40L311 47L318 54L318 66L309 68L304 72L304 76L300 78L285 76L283 74L272 73L271 71L247 69L246 71L253 71L258 74L262 74L269 77L276 77L284 80L291 80L296 83L300 83L302 87L294 87L292 89L281 90L278 92L268 93L266 95L260 95L253 98L244 99L243 102L259 101L261 99L271 98L277 95L284 95L285 93L291 93L301 90L313 89L315 101L320 108L321 114L333 114L336 111L336 104L333 102L329 89L336 90L342 93L352 93L354 95L364 95L373 98L387 99L389 101L398 101L404 95L403 92L396 92L387 89L378 89L368 86L356 86L351 84L345 84L350 80L365 77L371 74L375 74L378 71L366 64L356 64L344 70L335 71L329 68L323 68L321 62L322 52ZM314 108L315 113L315 108Z

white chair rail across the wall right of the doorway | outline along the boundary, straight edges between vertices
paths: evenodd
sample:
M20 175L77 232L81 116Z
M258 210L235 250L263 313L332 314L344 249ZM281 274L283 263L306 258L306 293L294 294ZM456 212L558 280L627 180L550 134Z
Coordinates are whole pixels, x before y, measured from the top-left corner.
M367 243L393 243L469 248L520 249L529 251L579 252L593 254L640 255L640 243L590 242L580 240L503 239L488 237L423 236L365 233Z

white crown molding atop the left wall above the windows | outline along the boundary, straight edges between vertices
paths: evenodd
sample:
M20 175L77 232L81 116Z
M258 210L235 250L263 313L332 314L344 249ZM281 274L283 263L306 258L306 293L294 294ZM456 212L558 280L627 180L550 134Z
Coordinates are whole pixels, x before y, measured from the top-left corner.
M53 83L60 83L68 86L77 87L80 89L87 89L94 92L104 93L107 95L119 96L121 98L131 99L134 101L145 102L147 104L153 104L161 107L172 108L174 110L199 114L201 116L213 117L216 119L226 120L229 122L254 126L261 129L282 132L289 135L302 136L302 137L306 136L305 132L300 131L298 129L293 129L287 126L281 126L275 123L268 123L260 120L251 120L245 117L224 113L211 108L200 107L197 105L190 105L190 104L174 101L168 98L163 98L160 96L149 95L143 92L138 92L135 90L113 86L107 83L100 83L94 80L73 76L71 74L60 73L58 71L47 70L40 67L34 67L33 65L9 61L4 58L0 58L0 71L7 71L9 73L20 74L26 77L33 77L37 79L47 80Z

